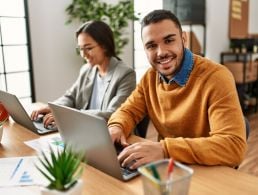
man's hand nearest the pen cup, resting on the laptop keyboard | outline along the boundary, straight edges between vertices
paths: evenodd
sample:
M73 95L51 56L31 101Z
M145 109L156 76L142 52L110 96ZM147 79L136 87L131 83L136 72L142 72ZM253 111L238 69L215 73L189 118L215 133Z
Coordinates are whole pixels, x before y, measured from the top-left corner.
M118 156L121 165L123 167L130 165L130 169L136 169L141 165L163 158L164 151L161 143L152 141L129 145Z

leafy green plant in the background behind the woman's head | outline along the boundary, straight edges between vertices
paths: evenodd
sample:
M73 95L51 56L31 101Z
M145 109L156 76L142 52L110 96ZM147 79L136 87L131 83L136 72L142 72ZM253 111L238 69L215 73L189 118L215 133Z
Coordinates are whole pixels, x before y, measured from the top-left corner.
M119 1L117 4L107 4L99 0L73 0L65 10L69 15L67 24L73 20L84 23L89 20L101 20L109 24L114 33L116 52L122 53L123 47L128 43L124 28L129 20L138 20L134 15L132 0Z

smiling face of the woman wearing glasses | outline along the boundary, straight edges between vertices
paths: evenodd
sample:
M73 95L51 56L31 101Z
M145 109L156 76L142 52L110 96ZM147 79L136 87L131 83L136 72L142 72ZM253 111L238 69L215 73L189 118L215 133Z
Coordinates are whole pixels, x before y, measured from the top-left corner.
M78 36L78 48L80 55L90 65L102 65L106 62L105 49L101 47L89 34L80 33Z

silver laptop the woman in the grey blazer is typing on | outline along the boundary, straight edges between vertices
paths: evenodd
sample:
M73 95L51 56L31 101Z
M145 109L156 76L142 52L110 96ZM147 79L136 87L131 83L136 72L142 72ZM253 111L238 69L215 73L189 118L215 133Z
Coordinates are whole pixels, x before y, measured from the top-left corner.
M12 119L27 129L39 134L56 132L56 126L44 127L43 121L32 121L16 95L0 90L0 102L4 105Z

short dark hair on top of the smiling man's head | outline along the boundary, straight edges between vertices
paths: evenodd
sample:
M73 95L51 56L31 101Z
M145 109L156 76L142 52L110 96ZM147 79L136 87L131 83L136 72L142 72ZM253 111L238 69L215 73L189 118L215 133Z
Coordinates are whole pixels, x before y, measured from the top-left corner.
M182 33L182 27L181 24L178 20L178 18L169 10L164 10L164 9L159 9L159 10L154 10L150 13L148 13L141 22L141 31L145 26L148 26L149 24L157 23L162 20L171 20L173 21L176 26L178 27L180 33Z

